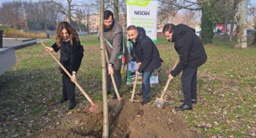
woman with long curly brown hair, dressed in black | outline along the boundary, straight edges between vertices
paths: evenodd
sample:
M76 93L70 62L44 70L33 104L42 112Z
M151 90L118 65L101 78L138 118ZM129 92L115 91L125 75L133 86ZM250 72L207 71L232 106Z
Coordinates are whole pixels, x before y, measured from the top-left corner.
M80 44L77 30L67 22L60 22L56 30L56 42L52 47L46 47L47 52L60 50L60 63L72 74L68 75L60 68L62 73L62 98L58 101L63 103L69 100L68 110L76 107L75 83L77 71L84 56L83 45Z

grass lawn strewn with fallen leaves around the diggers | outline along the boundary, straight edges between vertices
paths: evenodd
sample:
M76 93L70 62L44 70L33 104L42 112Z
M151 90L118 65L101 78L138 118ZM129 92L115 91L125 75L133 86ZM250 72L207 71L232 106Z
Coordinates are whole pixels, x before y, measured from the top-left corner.
M78 80L90 97L99 102L102 100L99 41L97 35L80 39L85 55ZM53 42L50 39L45 44ZM256 136L256 48L235 50L234 44L226 37L217 37L212 44L205 45L208 60L198 71L199 102L193 111L177 112L203 137ZM177 57L173 44L162 36L157 47L164 63L160 68L160 84L152 88L152 102L160 95ZM59 57L59 53L54 55ZM61 97L61 74L43 46L35 44L17 50L16 59L16 66L0 76L0 137L24 137L50 128L68 112L68 104L55 105ZM124 85L125 75L122 77L121 94L128 99L132 87ZM140 86L137 89L140 91ZM171 109L181 104L180 75L171 82L167 94ZM81 94L77 101L88 104Z

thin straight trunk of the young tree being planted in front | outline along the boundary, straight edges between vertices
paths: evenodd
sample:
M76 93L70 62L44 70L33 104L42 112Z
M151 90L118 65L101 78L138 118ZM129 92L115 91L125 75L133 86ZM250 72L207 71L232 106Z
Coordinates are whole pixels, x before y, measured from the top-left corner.
M103 43L103 18L104 18L104 0L100 0L100 55L101 55L101 70L102 70L102 101L103 101L103 132L102 138L108 138L108 107L106 93L106 61L105 47Z

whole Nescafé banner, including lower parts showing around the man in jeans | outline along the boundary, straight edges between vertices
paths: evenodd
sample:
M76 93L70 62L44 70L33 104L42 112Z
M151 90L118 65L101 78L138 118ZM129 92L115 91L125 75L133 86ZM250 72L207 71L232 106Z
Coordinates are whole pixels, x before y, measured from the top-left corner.
M157 43L157 0L127 0L127 27L135 25L143 27L154 43ZM129 52L132 51L132 43L127 42ZM131 85L135 81L135 72L137 64L135 61L127 65L126 84ZM140 74L136 80L137 84L142 83L142 75ZM150 77L151 84L158 84L158 71L154 71Z

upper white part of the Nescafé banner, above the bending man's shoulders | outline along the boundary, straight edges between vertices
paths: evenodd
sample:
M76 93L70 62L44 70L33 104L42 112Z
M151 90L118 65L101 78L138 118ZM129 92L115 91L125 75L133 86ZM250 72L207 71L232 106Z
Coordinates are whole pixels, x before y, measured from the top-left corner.
M157 43L157 0L127 0L127 27L143 27L146 34Z

